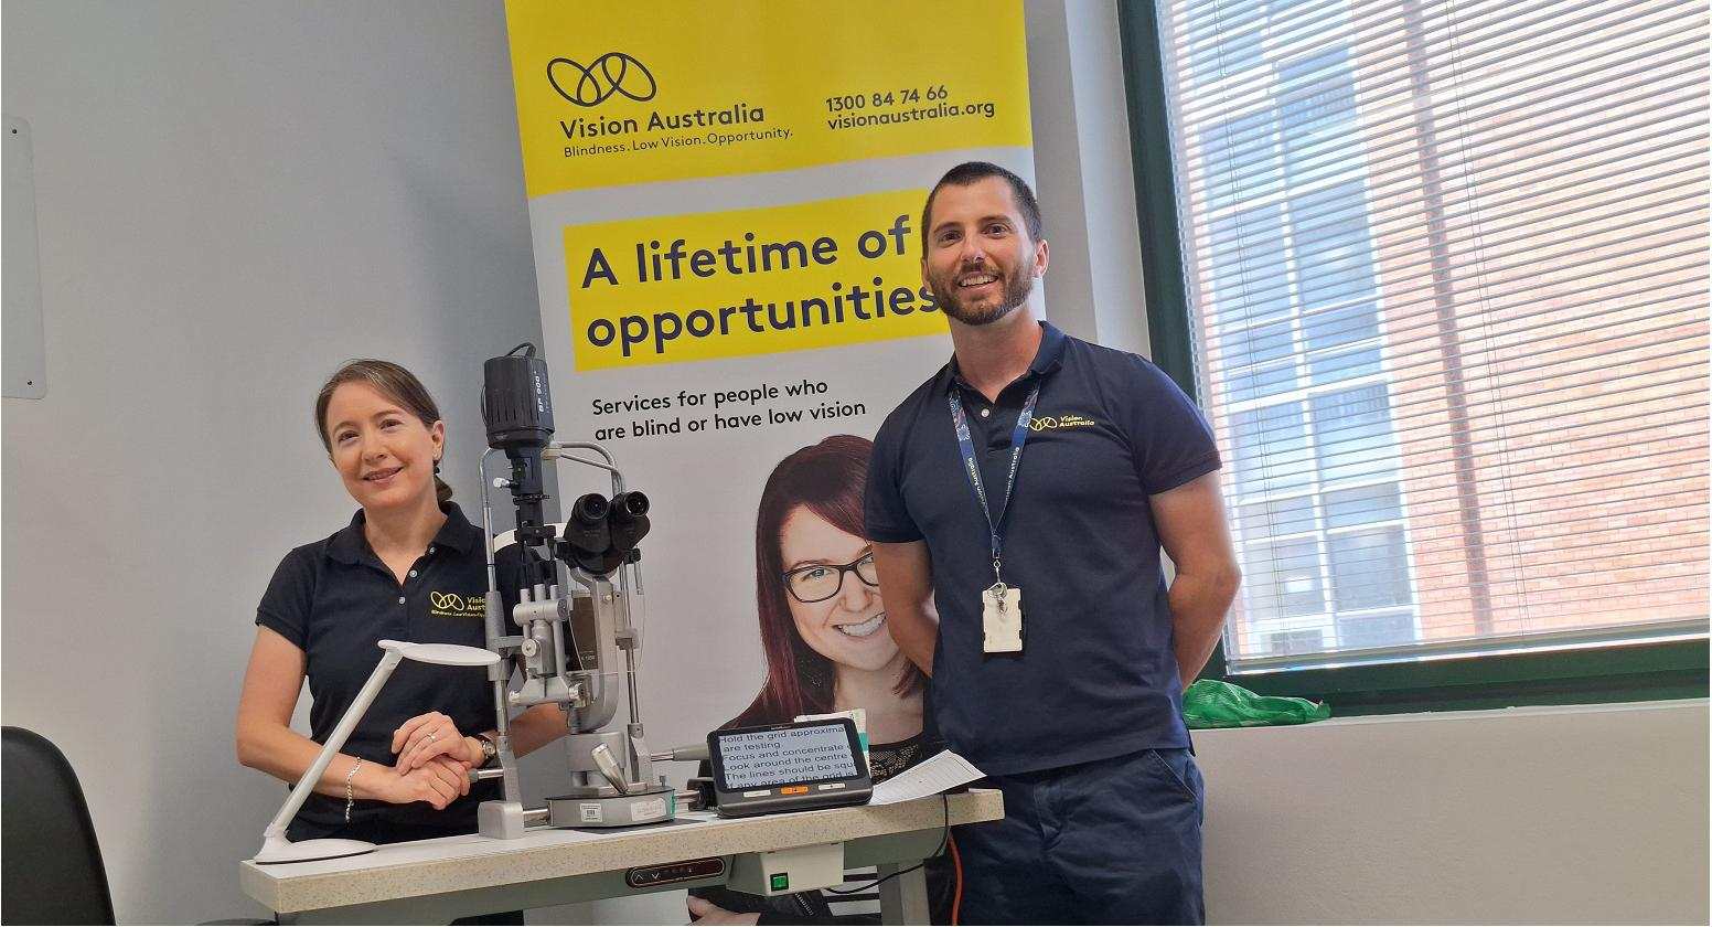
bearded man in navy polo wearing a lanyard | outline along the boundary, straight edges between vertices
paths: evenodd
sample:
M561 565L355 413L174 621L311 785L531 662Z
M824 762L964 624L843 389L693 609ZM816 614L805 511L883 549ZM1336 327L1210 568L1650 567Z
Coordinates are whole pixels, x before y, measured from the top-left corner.
M921 228L954 356L887 416L865 505L887 627L1005 793L959 831L962 920L1202 922L1181 692L1238 584L1212 434L1157 367L1037 319L1019 176L954 168Z

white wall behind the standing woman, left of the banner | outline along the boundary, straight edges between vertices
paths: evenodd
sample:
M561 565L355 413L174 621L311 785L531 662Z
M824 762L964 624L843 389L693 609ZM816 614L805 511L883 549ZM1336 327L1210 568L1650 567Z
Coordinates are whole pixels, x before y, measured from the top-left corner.
M466 504L481 360L539 338L498 3L9 2L48 394L3 403L3 718L84 781L120 922L260 913L255 603L353 511L312 427L414 368ZM308 699L305 697L306 704Z

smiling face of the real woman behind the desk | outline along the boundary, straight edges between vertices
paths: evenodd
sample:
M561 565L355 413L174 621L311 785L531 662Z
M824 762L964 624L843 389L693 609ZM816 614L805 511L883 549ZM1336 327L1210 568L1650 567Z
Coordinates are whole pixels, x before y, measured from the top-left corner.
M327 442L346 492L365 511L419 505L435 495L445 425L426 427L368 384L339 384L327 403Z

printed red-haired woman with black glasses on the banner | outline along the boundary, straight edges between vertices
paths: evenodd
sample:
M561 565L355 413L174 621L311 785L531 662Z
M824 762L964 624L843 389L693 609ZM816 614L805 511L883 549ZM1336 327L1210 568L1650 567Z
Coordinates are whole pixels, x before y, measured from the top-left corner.
M863 538L863 485L873 444L832 435L779 461L755 516L755 600L767 682L722 725L791 721L863 709L868 764L883 781L938 752L923 732L926 679L885 629L873 552ZM707 771L704 769L704 774ZM936 924L948 922L952 877L928 865ZM866 884L873 870L851 872ZM690 896L697 924L878 924L878 891L758 898L724 889Z

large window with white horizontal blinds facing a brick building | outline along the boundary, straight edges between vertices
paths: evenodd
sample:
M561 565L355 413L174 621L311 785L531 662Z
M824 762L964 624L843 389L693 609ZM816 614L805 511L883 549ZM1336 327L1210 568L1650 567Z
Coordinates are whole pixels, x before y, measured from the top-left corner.
M1703 641L1703 7L1123 19L1156 360L1245 565L1224 672Z

